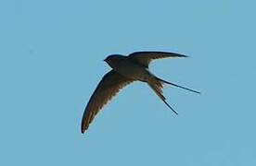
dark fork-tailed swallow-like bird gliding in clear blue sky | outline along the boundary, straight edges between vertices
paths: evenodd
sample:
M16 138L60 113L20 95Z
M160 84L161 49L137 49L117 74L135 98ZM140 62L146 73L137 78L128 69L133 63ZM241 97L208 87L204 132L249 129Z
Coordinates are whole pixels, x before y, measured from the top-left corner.
M112 68L98 83L94 93L88 101L81 124L82 134L93 122L96 113L108 103L122 88L134 81L147 83L153 89L161 101L169 107L173 113L178 114L163 96L163 85L169 84L181 89L186 89L195 93L200 93L194 89L187 89L172 82L163 80L153 75L148 65L152 60L162 58L188 57L180 53L168 52L134 52L128 55L110 54L104 61Z

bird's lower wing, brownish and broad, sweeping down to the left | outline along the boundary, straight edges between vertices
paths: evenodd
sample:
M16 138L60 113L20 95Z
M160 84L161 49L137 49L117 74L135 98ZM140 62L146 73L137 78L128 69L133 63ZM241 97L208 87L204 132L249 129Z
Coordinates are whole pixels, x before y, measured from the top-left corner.
M112 99L124 86L133 82L132 79L122 77L114 70L109 71L99 82L95 92L88 101L81 124L81 132L84 133L92 123L96 113Z

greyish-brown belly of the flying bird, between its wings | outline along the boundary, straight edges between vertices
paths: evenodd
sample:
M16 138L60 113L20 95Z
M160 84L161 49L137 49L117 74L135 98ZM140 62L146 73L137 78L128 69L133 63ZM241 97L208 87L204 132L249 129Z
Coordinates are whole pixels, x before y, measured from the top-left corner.
M147 77L150 76L149 71L140 65L128 64L121 65L114 68L123 77L128 77L134 80L147 81Z

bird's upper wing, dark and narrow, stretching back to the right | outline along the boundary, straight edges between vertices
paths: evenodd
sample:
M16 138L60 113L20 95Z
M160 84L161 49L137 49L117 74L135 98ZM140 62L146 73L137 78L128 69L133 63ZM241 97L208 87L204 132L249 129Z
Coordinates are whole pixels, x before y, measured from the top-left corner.
M170 57L187 57L184 54L179 53L167 53L167 52L135 52L129 56L134 62L148 67L150 62L154 59L170 58Z

